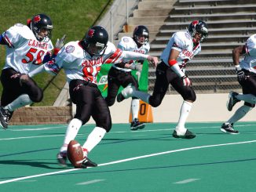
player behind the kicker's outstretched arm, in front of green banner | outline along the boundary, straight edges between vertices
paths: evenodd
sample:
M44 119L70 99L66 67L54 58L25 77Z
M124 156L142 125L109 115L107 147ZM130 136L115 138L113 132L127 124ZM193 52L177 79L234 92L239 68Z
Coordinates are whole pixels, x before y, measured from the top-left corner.
M148 28L143 25L139 25L135 27L133 31L133 38L123 37L117 47L124 51L147 54L150 49L148 39ZM108 106L112 106L115 103L115 97L118 94L120 86L126 87L127 85L133 85L135 89L138 89L138 82L131 74L131 71L137 70L137 73L141 73L140 68L142 66L138 65L141 65L142 63L143 61L138 61L137 64L134 60L124 60L122 63L116 63L112 66L108 72L108 96L105 98ZM138 77L140 77L140 74ZM121 100L123 100L123 98L119 98L118 102ZM133 119L130 125L131 130L144 128L144 124L138 120L139 107L140 100L133 97L131 101Z

